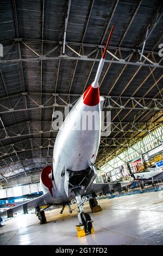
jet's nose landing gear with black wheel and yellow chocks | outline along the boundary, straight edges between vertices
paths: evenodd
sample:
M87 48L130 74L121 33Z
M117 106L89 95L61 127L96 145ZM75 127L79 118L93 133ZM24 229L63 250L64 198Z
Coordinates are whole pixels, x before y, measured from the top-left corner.
M78 236L85 236L87 234L91 234L94 232L93 226L92 226L92 220L89 214L84 212L84 201L82 200L82 197L80 195L80 191L76 190L74 191L75 196L76 196L76 201L78 205L78 220L79 220L79 225L77 225L77 231L78 231ZM84 197L86 200L86 197Z

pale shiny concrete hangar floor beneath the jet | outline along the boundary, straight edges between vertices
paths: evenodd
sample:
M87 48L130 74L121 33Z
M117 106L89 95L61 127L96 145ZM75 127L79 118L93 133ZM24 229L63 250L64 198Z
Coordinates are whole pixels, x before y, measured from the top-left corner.
M39 225L35 214L21 215L4 222L0 245L162 245L162 192L100 199L103 211L89 212L95 233L78 237L77 206L70 215L65 209L46 212L47 224Z

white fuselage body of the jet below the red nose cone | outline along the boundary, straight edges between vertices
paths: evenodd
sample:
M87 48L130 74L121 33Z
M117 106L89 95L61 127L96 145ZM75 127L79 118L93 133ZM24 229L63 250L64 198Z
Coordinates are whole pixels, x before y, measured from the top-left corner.
M86 114L89 114L87 121L85 119ZM93 114L94 118L90 119ZM100 137L100 102L96 106L87 106L83 102L82 95L67 115L55 140L53 151L54 196L58 191L61 196L65 193L66 172L68 170L78 172L95 162ZM59 196L57 195L57 197Z

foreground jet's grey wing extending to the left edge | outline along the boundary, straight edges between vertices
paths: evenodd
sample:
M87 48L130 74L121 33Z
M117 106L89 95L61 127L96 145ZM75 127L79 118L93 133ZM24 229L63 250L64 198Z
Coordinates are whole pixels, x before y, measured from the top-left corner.
M34 209L36 206L52 205L52 204L54 204L54 199L51 196L51 193L48 192L46 194L43 194L41 197L37 197L33 200L30 200L28 202L24 202L23 204L15 206L12 209L8 209L6 211L0 212L0 216L7 215L8 212L11 211L11 210L12 210L12 212L21 211L23 206L27 206L28 209Z

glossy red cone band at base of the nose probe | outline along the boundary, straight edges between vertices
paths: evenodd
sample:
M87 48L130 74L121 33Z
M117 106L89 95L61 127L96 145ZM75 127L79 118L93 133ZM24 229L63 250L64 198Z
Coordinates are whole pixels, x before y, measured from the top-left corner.
M87 106L96 106L99 101L99 88L93 88L92 85L90 85L83 95L84 104Z

